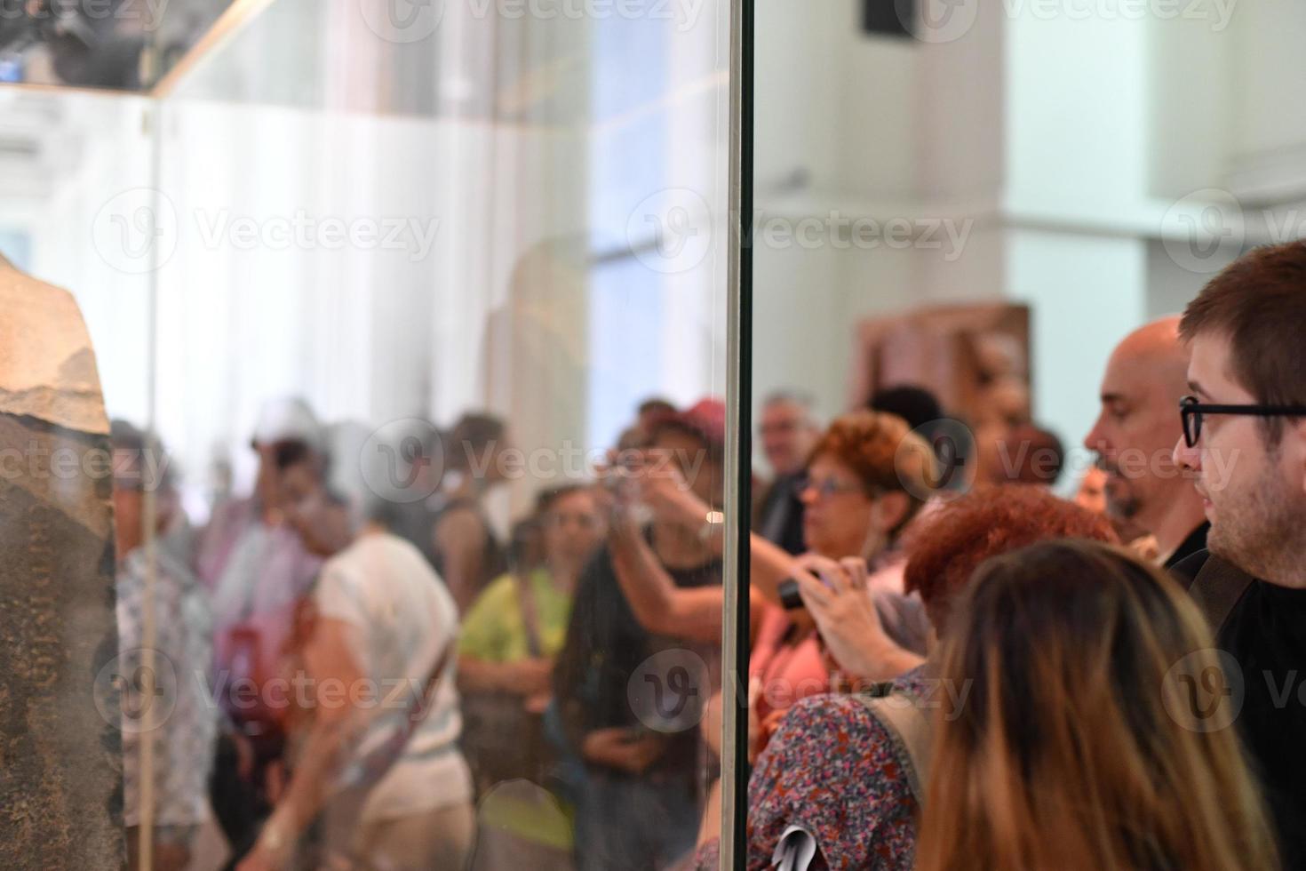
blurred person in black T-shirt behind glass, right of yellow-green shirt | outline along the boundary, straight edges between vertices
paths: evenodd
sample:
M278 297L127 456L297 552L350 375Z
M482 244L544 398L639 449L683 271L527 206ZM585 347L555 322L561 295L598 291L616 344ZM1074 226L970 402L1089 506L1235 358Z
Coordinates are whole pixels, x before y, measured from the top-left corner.
M704 400L657 418L648 435L653 461L674 465L704 503L720 508L725 406ZM700 516L687 528L654 518L640 535L675 588L717 588L720 602L721 558L701 534L705 522ZM718 686L720 644L649 632L622 594L611 546L602 548L581 572L554 679L563 730L584 760L575 833L581 871L653 871L693 849L708 778L697 733L657 731L629 695L641 663L670 649L697 657ZM705 699L713 687L692 691Z

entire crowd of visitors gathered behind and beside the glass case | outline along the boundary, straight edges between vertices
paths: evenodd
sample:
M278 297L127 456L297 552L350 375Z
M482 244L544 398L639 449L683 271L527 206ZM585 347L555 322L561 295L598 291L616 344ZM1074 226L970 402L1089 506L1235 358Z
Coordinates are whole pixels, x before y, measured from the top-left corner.
M1290 243L1124 337L1070 500L1032 420L999 437L1051 462L989 474L974 445L942 475L922 387L828 423L768 397L738 864L1306 868L1303 336ZM725 407L645 402L500 538L508 439L466 415L421 498L363 498L273 402L255 492L185 534L158 445L115 424L121 644L153 609L182 675L124 731L128 827L154 742L154 867L209 807L240 871L718 867Z

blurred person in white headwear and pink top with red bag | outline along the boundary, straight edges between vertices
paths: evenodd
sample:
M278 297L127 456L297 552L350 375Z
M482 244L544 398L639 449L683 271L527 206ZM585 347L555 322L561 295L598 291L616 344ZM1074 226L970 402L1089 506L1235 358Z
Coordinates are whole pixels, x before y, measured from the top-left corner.
M214 687L225 714L210 798L236 857L269 812L268 772L281 760L285 730L281 713L232 691L248 682L263 687L281 673L298 603L321 567L286 524L281 481L302 456L320 477L321 444L321 427L302 400L265 402L251 443L259 454L255 491L217 505L196 543L196 571L212 593ZM336 522L345 522L343 512Z

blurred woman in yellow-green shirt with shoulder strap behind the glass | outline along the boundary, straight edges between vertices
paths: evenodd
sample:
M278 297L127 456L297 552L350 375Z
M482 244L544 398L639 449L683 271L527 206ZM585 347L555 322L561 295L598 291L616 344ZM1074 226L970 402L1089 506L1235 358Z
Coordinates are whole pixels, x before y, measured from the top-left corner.
M545 780L541 720L554 662L581 569L606 533L594 488L582 483L545 490L518 530L513 569L477 598L458 640L462 747L478 794L516 777ZM538 560L530 555L535 534Z

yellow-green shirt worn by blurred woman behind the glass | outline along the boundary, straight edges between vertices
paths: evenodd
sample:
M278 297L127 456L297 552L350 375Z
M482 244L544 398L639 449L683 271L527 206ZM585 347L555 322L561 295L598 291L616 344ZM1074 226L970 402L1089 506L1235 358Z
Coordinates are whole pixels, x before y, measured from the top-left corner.
M539 646L545 657L555 657L567 637L571 593L554 586L546 568L537 568L528 581L535 594ZM482 662L516 662L530 657L517 581L512 575L491 581L471 603L462 620L458 653Z

